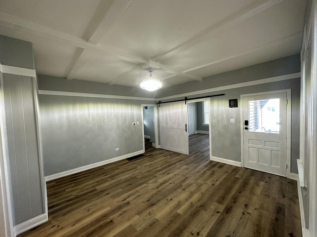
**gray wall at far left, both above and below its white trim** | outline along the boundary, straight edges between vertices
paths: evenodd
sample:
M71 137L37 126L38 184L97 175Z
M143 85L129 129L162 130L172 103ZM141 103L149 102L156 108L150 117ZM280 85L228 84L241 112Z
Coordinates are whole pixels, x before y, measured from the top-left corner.
M2 65L33 69L32 44L0 36ZM36 80L31 77L2 74L6 141L13 225L45 213L44 177L41 177L36 119Z

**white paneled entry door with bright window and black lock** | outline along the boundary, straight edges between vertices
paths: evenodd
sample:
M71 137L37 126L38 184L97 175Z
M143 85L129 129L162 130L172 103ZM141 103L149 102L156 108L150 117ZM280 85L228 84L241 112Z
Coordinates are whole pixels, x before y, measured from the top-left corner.
M287 94L243 97L244 166L286 176Z

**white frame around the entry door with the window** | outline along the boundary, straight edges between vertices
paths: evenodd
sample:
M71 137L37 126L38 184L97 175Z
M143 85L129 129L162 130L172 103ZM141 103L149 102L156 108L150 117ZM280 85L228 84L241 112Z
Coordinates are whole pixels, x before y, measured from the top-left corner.
M244 118L243 118L243 101L245 97L272 95L286 93L287 107L286 107L286 177L291 177L291 89L265 91L252 94L244 94L240 96L240 131L241 131L241 167L244 167Z

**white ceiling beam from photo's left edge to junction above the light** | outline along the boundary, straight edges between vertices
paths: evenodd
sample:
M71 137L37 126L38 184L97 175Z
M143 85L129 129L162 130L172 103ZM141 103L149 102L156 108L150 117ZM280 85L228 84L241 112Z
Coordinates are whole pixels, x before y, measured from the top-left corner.
M17 31L23 31L29 34L40 36L46 39L59 41L79 48L108 53L124 61L132 63L147 63L147 60L141 57L131 55L119 49L113 48L109 45L93 44L76 36L55 30L53 28L17 16L7 14L5 12L0 12L0 25L13 28Z

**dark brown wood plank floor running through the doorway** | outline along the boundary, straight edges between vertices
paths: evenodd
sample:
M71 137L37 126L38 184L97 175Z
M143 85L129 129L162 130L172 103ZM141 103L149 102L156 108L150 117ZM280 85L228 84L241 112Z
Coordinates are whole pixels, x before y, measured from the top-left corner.
M19 237L300 237L296 182L153 149L47 183L49 221Z

